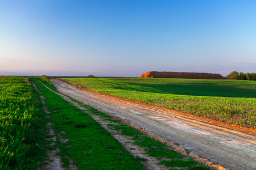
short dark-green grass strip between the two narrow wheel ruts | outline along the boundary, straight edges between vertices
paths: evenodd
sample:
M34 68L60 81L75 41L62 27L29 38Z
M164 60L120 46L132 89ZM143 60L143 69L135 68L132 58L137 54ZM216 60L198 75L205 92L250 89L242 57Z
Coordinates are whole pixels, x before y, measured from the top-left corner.
M88 114L47 90L38 80L32 81L46 97L55 133L65 131L65 135L62 133L63 137L69 139L66 143L57 144L61 149L64 165L69 164L66 158L68 156L79 169L143 169L143 165ZM88 109L90 112L98 112L93 108Z

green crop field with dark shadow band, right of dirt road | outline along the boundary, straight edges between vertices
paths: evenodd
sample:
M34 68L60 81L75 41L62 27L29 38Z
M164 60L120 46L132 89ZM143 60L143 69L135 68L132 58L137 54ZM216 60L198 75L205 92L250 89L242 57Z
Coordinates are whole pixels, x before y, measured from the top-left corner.
M256 128L256 82L246 80L65 78L103 94Z

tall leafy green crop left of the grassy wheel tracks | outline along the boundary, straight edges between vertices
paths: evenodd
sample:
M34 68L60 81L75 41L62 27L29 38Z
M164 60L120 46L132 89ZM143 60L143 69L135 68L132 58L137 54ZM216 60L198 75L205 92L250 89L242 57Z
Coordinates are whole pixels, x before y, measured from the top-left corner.
M36 169L46 156L40 99L21 76L0 76L0 169Z

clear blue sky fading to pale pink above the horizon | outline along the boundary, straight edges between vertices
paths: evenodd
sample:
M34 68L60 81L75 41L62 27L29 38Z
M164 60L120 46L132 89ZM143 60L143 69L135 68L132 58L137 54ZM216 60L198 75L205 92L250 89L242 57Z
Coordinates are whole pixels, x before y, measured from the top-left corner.
M0 75L256 72L256 0L0 0Z

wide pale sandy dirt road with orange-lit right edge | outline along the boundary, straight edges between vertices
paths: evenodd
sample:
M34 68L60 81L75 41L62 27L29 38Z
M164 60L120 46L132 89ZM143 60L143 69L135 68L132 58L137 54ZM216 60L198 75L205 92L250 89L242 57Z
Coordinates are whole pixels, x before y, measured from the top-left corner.
M118 100L61 80L52 84L65 95L144 127L228 169L256 169L256 137L224 125Z

